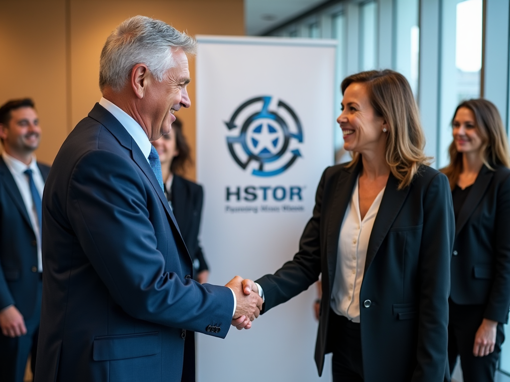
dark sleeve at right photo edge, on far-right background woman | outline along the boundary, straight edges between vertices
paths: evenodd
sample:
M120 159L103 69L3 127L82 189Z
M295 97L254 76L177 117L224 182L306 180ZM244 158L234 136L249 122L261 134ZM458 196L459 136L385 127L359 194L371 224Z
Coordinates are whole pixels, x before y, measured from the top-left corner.
M494 221L494 281L484 317L506 323L510 305L510 176L498 189Z

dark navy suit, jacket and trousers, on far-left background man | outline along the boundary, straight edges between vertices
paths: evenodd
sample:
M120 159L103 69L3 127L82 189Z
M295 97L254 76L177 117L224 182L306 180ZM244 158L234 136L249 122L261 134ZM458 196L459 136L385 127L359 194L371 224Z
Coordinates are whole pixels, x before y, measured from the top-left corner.
M46 181L49 167L37 163ZM0 333L0 380L22 380L32 350L35 367L41 275L37 271L37 242L29 213L4 159L0 156L0 310L14 305L23 315L27 334Z

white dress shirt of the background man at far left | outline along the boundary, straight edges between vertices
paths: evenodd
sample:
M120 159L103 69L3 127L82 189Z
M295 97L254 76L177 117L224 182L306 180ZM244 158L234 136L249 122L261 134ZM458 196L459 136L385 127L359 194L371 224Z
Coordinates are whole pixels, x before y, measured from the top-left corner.
M30 222L32 223L32 229L34 230L35 239L37 243L37 270L42 272L42 255L41 255L41 235L39 227L39 217L37 216L37 211L34 206L34 200L32 199L32 192L30 191L30 183L27 174L24 172L28 169L32 170L32 179L34 179L35 188L37 188L37 192L42 200L42 192L44 190L44 179L42 178L41 171L37 166L37 161L35 156L32 156L32 161L30 165L25 165L25 163L19 161L18 159L13 158L5 151L2 153L2 158L7 165L7 168L12 174L16 185L18 186L19 193L21 194L21 198L23 199L23 203L25 208L27 208L27 212L29 213Z

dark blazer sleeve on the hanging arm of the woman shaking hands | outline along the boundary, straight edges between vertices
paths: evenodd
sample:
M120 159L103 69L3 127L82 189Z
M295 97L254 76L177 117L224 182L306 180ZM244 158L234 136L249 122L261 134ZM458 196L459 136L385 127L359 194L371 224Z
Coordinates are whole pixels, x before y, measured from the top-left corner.
M423 235L418 277L420 307L418 364L413 382L442 381L447 368L450 256L455 218L448 179L436 174L423 200Z

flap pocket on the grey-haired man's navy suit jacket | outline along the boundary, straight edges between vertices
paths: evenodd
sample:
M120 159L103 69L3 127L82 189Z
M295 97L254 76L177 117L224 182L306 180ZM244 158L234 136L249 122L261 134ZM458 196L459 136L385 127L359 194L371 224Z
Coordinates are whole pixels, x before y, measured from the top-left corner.
M154 356L161 351L158 332L98 336L94 338L94 361Z

